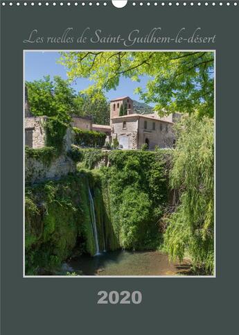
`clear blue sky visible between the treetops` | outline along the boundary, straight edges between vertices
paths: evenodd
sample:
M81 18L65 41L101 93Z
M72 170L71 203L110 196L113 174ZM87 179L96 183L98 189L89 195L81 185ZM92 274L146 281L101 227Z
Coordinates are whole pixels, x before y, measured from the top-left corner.
M63 65L57 64L57 60L60 58L60 54L44 51L26 51L25 52L25 80L33 81L42 79L44 76L50 75L61 76L63 79L67 79L67 71ZM128 78L121 78L120 84L118 85L116 91L111 89L106 93L106 96L109 100L116 98L118 96L130 96L130 98L140 101L139 95L134 94L134 89L136 87L145 87L148 78L145 76L141 78L140 83L132 82ZM72 87L76 92L81 91L82 89L87 88L91 85L91 82L86 78L78 78L76 82L72 83Z

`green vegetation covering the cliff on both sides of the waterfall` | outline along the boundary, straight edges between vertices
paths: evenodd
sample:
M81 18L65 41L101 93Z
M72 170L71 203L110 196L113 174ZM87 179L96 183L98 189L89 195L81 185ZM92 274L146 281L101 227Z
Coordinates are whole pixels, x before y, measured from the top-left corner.
M90 170L103 155L112 166ZM84 149L78 157L87 169L26 187L28 274L54 272L74 249L94 255L88 187L94 198L100 250L159 245L157 221L168 201L166 155Z

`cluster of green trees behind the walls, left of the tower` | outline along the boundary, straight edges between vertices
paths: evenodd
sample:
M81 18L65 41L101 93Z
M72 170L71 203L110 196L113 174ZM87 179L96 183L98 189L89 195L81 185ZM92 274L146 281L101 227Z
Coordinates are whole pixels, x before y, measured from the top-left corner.
M102 92L76 94L69 80L60 76L45 76L42 80L26 82L30 112L35 116L55 117L68 123L71 116L90 116L93 123L109 124L109 103Z

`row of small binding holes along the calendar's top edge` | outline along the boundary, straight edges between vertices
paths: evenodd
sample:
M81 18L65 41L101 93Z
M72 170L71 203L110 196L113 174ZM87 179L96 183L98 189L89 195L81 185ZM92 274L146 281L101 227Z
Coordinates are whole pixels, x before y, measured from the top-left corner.
M52 2L52 3L48 3L48 2L2 2L1 5L2 6L100 6L100 4L102 4L103 6L107 6L107 2ZM147 2L147 3L143 3L143 2L132 2L132 6L238 6L237 2L191 2L191 3L186 3L186 2Z

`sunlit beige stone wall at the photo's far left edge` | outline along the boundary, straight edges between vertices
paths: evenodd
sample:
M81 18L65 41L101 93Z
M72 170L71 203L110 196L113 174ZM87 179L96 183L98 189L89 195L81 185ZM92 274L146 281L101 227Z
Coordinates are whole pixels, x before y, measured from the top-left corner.
M44 147L44 121L46 117L25 117L25 144L30 148Z

